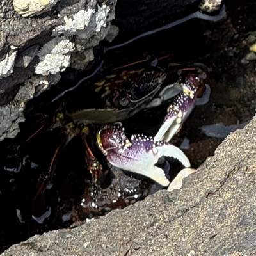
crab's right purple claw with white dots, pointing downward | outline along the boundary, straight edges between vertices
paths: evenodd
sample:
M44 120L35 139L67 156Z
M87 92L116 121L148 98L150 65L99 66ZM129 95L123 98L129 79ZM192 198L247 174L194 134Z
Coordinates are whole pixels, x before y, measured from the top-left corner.
M195 72L188 70L180 76L183 92L173 98L163 124L154 137L155 141L168 142L172 139L195 107L198 87L204 86L205 78L206 74L202 70L195 70Z

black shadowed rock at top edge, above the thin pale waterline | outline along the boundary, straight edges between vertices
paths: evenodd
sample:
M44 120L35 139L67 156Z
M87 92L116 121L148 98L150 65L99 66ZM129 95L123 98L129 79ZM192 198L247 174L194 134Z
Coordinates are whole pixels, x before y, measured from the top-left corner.
M159 28L198 10L200 0L118 0L115 20L120 38L129 38L144 31ZM182 15L181 15L182 13Z

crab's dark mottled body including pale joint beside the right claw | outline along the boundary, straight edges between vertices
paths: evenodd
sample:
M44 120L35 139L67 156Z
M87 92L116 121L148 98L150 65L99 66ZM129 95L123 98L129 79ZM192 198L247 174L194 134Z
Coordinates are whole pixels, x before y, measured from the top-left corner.
M176 71L173 68L170 72ZM67 116L74 122L86 124L108 124L130 118L141 109L158 106L182 92L179 83L168 84L167 76L166 70L151 66L139 70L114 72L93 84L93 106L95 102L100 102L96 108L88 106L88 102L92 102L92 95L88 93L90 98L77 100L76 93L74 99L71 97L68 100ZM178 77L179 75L177 79ZM86 97L82 92L78 94ZM81 101L86 101L87 105L81 106ZM79 102L78 110L76 102Z

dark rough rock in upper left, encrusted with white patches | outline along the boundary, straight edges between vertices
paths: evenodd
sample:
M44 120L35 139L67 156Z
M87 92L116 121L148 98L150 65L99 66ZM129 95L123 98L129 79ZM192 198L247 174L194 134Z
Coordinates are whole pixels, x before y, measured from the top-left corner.
M31 84L36 87L46 81L46 90L58 83L60 72L67 67L86 67L94 57L92 47L108 33L116 4L116 0L31 1L37 4L34 12L33 4L27 2L4 0L0 3L0 141L13 138L19 132L26 102L35 97L29 92L23 98L26 101L19 99L17 104L17 92L29 91L22 85L26 87L28 79L31 81L35 74L40 74L44 76L42 80L37 76ZM26 17L30 15L36 16ZM78 52L83 60L76 61ZM55 79L51 77L50 81L49 74L55 75ZM4 123L3 118L8 122Z

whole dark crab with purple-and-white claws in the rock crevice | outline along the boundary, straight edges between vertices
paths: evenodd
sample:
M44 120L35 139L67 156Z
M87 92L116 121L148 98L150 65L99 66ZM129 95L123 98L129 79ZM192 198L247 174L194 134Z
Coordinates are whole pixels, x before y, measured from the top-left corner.
M34 121L31 122L31 125L21 129L26 134L23 136L25 139L22 139L23 141L17 139L18 147L10 148L11 152L7 156L4 170L12 173L13 180L15 177L22 176L20 172L23 172L26 166L33 165L36 169L36 162L34 163L33 159L29 159L29 153L27 152L29 143L35 145L36 149L37 140L44 143L39 134L44 134L47 131L56 131L56 133L57 130L60 131L59 144L54 146L56 149L52 153L52 159L49 159L49 168L33 180L33 182L36 182L35 193L32 195L34 220L42 223L44 218L47 218L51 213L51 209L46 204L45 189L52 183L58 156L69 141L76 136L79 136L84 142L86 163L92 175L92 182L96 186L101 186L109 172L108 166L98 161L100 152L106 156L107 161L113 166L140 173L163 186L168 186L169 180L163 170L155 165L162 156L177 158L185 167L190 166L184 153L168 143L170 136L167 134L170 134L170 129L166 127L172 126L170 122L164 121L162 128L159 130L164 129L164 132L161 132L163 136L156 134L159 138L134 135L130 140L125 136L124 128L120 125L112 126L111 124L125 120L141 109L159 106L166 100L172 100L167 115L170 116L170 109L179 108L179 104L177 103L177 105L175 102L184 99L187 95L192 103L186 106L182 105L183 107L179 108L176 117L173 116L172 120L173 124L176 122L181 125L195 106L196 90L199 85L203 84L205 78L202 69L204 69L204 66L195 65L195 67L188 68L182 66L168 67L166 70L158 67L148 67L115 72L100 79L100 81L93 81L92 84L86 85L86 89L88 89L88 86L91 86L92 89L92 93L88 93L89 100L86 103L99 103L94 108L83 106L81 110L81 105L79 105L78 110L70 108L70 105L74 105L74 101L79 101L77 95L84 98L84 93L80 93L79 88L77 88L78 92L74 92L74 100L70 97L64 105L62 101L54 102L56 104L54 114L46 115L42 113L38 115L39 118L36 118L36 121L35 116L32 116ZM101 125L106 126L101 127ZM31 129L34 126L36 126L36 130ZM28 130L32 130L32 132L27 134ZM94 146L95 137L99 149ZM127 157L129 157L129 161L126 160ZM15 159L15 161L9 161L9 159ZM14 163L15 165L13 165ZM148 168L145 168L145 166L148 166Z

